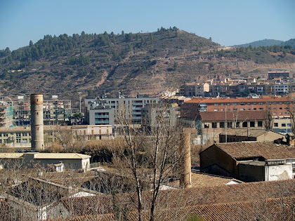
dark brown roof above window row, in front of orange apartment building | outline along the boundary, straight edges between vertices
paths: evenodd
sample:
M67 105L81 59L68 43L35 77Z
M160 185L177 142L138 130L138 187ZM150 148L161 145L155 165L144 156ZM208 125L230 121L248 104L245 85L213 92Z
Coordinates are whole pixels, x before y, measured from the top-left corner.
M263 111L240 111L240 112L199 112L202 121L244 121L244 120L263 120Z

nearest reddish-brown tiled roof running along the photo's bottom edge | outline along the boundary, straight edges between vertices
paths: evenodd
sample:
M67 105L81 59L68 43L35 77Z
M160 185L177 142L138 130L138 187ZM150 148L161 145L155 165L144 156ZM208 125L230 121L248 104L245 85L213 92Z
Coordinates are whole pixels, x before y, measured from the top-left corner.
M231 187L235 186L237 185L231 185ZM228 194L235 194L235 192L228 192ZM256 192L253 194L256 194ZM282 195L278 197L260 199L257 196L257 199L250 201L244 199L227 203L216 203L216 201L212 201L212 203L204 205L193 204L190 199L182 198L179 199L179 205L176 205L176 207L156 208L155 220L188 220L188 217L192 217L193 215L195 217L202 217L204 220L293 220L294 205L294 193L287 196L284 190L282 191ZM120 212L122 216L123 211L121 210ZM142 212L143 220L149 220L149 215L150 210L144 208ZM126 216L128 220L138 220L136 210L129 211ZM57 220L114 220L114 218L114 214L91 214Z

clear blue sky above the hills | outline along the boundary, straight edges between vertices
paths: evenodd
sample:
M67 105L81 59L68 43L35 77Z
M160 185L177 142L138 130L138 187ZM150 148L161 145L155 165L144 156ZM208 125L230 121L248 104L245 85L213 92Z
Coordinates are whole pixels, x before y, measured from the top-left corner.
M295 38L294 0L0 0L0 49L51 34L155 32L173 27L222 46Z

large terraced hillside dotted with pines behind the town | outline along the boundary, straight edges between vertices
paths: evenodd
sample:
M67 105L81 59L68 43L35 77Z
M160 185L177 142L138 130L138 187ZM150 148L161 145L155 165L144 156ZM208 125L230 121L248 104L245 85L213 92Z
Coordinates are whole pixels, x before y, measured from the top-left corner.
M0 51L1 95L155 94L217 76L294 72L291 48L222 48L176 27L138 34L44 36L29 46Z

